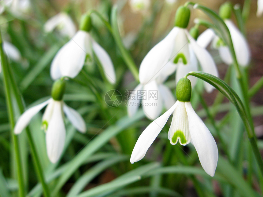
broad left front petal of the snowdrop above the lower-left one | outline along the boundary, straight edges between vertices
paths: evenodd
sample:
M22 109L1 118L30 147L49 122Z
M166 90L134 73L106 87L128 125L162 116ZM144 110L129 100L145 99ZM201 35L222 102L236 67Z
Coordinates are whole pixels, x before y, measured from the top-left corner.
M54 64L59 65L62 76L74 78L81 71L87 54L91 55L90 35L87 32L78 31L57 53L59 57Z

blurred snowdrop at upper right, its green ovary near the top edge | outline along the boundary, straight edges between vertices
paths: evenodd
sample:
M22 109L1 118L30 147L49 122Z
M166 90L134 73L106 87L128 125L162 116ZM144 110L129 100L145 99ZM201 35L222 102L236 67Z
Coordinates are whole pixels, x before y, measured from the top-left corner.
M247 66L250 61L250 49L246 38L230 20L231 5L229 3L223 4L219 14L229 29L238 64L240 66ZM228 46L226 46L223 40L219 38L213 30L207 29L197 38L197 43L203 48L206 48L210 42L212 42L213 48L218 49L219 55L225 64L230 65L233 63Z

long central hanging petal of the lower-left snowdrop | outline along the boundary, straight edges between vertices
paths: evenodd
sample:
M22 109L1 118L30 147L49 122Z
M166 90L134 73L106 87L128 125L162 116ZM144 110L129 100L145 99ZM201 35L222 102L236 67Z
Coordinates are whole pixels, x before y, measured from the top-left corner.
M54 101L54 110L46 131L47 155L52 163L58 161L65 144L66 129L61 104L61 101Z

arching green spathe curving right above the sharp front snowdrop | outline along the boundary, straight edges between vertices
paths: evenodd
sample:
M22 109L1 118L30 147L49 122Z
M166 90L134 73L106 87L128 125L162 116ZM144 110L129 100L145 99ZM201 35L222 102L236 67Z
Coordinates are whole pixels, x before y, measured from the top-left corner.
M219 92L221 92L227 99L234 104L237 109L239 116L241 117L244 126L246 127L247 135L249 138L254 136L254 131L251 128L250 121L246 115L246 110L244 108L243 103L241 102L239 96L235 93L235 91L228 86L223 80L220 78L200 71L192 71L187 74L187 76L192 75L194 77L200 78L205 82L208 82L212 86L214 86Z

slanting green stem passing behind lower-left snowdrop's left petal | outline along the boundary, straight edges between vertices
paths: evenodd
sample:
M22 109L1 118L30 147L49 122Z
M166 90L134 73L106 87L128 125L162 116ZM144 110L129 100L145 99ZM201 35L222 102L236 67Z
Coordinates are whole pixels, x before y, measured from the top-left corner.
M13 89L13 92L14 92L14 95L15 95L15 98L16 98L16 101L17 101L17 105L19 107L19 111L20 111L20 113L23 113L24 112L24 105L23 105L23 102L22 102L22 97L21 97L20 91L19 91L19 89L18 89L18 87L16 85L17 83L14 80L14 75L13 75L13 71L12 71L11 67L8 67L8 75L9 75L9 79L10 79L10 84L12 86L12 89ZM42 170L42 167L41 167L41 164L40 164L40 161L39 161L39 157L37 155L37 151L36 151L36 148L35 148L35 144L34 144L32 135L31 135L31 133L30 133L28 128L26 128L26 133L27 133L29 145L30 145L30 148L31 148L32 157L33 157L33 160L34 160L33 163L34 163L35 171L37 173L37 176L39 178L40 183L42 184L44 196L45 197L49 197L50 196L50 192L49 192L49 189L48 189L47 184L45 182L45 178L44 178L44 175L43 175L43 170Z

